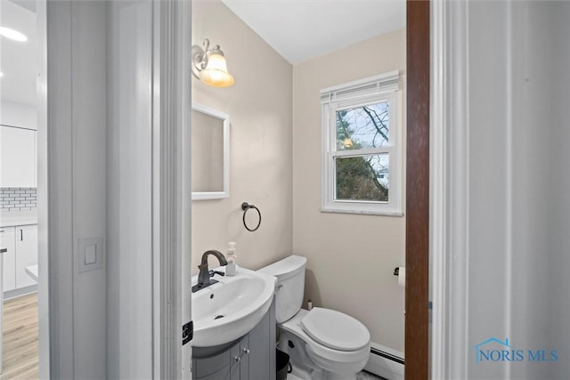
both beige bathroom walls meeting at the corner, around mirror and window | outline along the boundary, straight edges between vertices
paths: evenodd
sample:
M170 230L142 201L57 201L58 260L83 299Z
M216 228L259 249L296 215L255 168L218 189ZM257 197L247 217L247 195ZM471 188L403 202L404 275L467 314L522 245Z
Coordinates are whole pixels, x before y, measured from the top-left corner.
M193 44L204 37L220 44L235 77L225 89L192 84L192 101L231 117L230 198L192 202L193 273L204 251L224 252L228 241L251 269L305 255L305 299L353 315L373 342L403 351L404 292L392 271L404 264L405 219L320 212L319 91L394 69L405 74L404 30L292 68L224 4L192 6ZM256 232L241 223L243 201L262 211Z

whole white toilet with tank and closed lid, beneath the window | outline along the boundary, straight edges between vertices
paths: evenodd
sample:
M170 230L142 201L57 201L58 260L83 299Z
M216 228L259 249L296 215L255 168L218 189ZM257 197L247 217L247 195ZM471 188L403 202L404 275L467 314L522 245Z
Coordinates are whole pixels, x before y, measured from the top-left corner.
M360 321L330 309L301 309L303 256L291 255L259 271L277 278L275 319L279 349L289 353L292 375L306 380L355 379L368 362L371 335Z

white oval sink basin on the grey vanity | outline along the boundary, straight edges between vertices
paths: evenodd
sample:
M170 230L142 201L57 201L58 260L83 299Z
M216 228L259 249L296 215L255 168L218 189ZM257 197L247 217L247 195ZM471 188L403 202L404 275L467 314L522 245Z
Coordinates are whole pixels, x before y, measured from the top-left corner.
M224 271L224 267L216 268ZM192 345L212 347L248 334L265 316L277 279L238 267L233 277L216 274L214 285L192 293ZM198 276L192 278L192 285Z

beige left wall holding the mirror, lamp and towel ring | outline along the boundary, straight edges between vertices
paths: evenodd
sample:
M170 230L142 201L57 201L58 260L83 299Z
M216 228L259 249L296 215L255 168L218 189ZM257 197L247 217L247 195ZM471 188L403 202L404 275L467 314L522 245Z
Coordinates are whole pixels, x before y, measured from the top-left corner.
M292 250L292 67L219 1L192 2L192 44L205 37L235 77L229 88L192 82L193 102L231 118L230 198L192 202L192 273L204 251L225 253L228 241L240 265L258 269ZM262 212L256 232L241 222L244 201Z

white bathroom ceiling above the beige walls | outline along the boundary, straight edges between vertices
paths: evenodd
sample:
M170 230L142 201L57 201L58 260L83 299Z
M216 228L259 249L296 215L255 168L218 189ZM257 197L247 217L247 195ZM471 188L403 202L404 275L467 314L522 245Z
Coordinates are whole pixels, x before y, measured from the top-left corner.
M405 27L405 0L222 0L291 64Z

